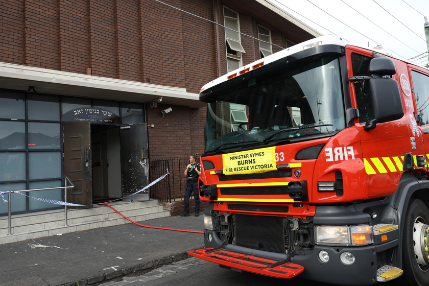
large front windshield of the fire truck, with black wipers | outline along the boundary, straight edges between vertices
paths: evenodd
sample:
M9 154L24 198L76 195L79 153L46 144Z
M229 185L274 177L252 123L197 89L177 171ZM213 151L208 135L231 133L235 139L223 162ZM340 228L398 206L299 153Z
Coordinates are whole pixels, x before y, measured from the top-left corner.
M206 152L274 140L306 140L345 128L336 56L307 59L281 68L267 65L253 77L251 73L246 76L245 80L237 78L234 84L219 84L210 91Z

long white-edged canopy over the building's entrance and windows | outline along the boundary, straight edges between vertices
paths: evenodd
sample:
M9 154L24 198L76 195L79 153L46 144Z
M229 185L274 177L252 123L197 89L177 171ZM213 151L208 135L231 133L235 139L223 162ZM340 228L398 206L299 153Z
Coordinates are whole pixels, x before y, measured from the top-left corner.
M67 71L0 62L2 88L27 90L34 86L38 93L117 101L149 102L163 97L162 103L200 108L198 93L185 88L97 77Z

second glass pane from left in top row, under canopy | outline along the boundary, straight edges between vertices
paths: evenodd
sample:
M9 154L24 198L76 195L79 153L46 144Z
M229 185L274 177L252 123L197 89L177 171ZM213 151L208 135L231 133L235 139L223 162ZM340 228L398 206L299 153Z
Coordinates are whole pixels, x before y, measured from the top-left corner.
M35 96L28 98L28 118L32 120L60 120L59 99L51 96Z

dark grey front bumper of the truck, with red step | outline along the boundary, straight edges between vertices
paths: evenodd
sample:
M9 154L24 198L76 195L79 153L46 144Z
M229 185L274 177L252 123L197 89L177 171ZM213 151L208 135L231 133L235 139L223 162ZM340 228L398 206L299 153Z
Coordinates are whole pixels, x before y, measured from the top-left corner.
M211 235L211 239L208 237ZM376 283L377 251L376 246L331 247L314 246L312 249L301 249L294 256L283 253L255 250L227 244L221 247L222 241L216 231L204 230L206 248L189 251L188 254L211 261L226 267L277 278L299 277L339 285L370 285ZM211 249L217 248L216 251ZM319 258L320 251L329 254L329 261L323 263ZM340 255L350 252L355 256L352 265L341 262Z

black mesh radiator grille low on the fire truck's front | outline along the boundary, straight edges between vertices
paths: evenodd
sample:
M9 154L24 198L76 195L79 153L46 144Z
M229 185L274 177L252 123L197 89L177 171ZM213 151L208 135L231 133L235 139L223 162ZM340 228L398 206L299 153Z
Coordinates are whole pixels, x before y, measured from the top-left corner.
M235 214L234 223L236 245L284 253L283 218Z

